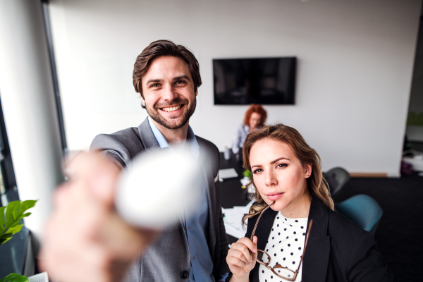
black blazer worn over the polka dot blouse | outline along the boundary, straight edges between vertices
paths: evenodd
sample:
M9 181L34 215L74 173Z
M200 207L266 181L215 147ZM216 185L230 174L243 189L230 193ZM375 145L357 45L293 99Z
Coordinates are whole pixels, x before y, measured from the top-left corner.
M277 213L267 209L259 221L255 235L260 250L266 247ZM250 238L257 218L258 215L248 220L245 237ZM302 261L302 282L394 281L376 250L372 234L333 212L316 197L312 197L310 219L313 224ZM256 263L250 272L250 282L259 282L259 266ZM228 277L226 281L229 280Z

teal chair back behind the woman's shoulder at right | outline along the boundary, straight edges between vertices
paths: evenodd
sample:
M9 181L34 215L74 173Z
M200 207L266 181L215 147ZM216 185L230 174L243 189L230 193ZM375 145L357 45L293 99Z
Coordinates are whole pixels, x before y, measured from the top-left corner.
M365 231L374 235L384 212L381 206L370 196L355 195L350 199L335 204L336 210Z

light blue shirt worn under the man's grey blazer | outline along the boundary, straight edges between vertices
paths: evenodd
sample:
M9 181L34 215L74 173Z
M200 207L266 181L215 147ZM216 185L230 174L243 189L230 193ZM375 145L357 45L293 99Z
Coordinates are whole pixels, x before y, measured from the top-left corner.
M157 129L156 125L152 123L150 117L148 117L148 122L150 128L152 128L154 137L156 137L157 142L159 142L160 148L171 149L166 138L161 134L160 130ZM200 147L190 126L188 127L186 142L190 142L190 144L187 145L191 146L192 157L198 159L198 157L200 157ZM202 204L197 209L197 212L195 212L195 214L190 214L190 216L184 219L185 234L188 238L188 247L190 248L191 255L189 281L214 282L213 262L209 252L209 245L207 244L209 240L209 197L207 196L207 186L204 178L202 180L201 197ZM219 281L224 281L226 276L227 274L223 275Z

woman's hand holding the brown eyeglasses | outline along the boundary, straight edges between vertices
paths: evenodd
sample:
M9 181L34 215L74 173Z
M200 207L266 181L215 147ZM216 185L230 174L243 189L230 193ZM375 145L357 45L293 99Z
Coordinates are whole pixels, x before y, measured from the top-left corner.
M226 257L226 262L233 274L231 281L248 281L250 271L256 264L255 259L250 255L250 250L257 256L256 236L252 238L252 241L247 237L240 238L231 245Z

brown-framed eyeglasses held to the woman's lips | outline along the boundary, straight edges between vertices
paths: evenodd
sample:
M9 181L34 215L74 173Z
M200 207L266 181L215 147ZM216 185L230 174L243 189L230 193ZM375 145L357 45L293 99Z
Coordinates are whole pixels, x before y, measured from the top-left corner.
M273 202L272 204L274 204L275 202ZM270 204L269 207L272 204ZM266 207L266 209L269 209L269 207ZM259 215L259 218L257 219L257 222L256 222L256 224L254 226L254 229L252 230L252 234L251 234L251 238L250 238L251 240L252 240L252 238L254 236L255 230L257 228L257 224L259 223L259 220L262 217L262 214L264 212L266 212L266 209L263 209L263 211ZM300 266L301 266L301 263L302 263L302 259L304 259L305 248L307 247L309 233L310 233L310 230L312 229L312 223L313 223L313 220L310 219L310 223L309 223L309 228L308 228L308 231L307 231L307 235L305 235L304 249L302 250L302 256L301 256L301 259L300 259L300 263L298 264L298 269L296 271L293 271L292 269L288 269L288 267L286 267L286 266L281 266L281 264L276 264L273 267L269 266L269 264L271 262L271 257L269 256L269 254L267 254L266 252L264 252L264 250L257 250L257 257L251 251L250 251L250 254L252 255L252 257L254 257L254 259L255 259L256 262L258 262L259 264L262 264L262 265L266 266L266 269L270 269L279 278L283 278L283 279L288 280L288 281L295 281L295 278L297 278L298 271L300 271ZM262 260L262 258L263 258L264 255L267 256L267 262L263 262L263 260ZM281 276L281 275L279 275L279 274L276 273L276 270L275 269L276 270L277 269L286 269L286 271L291 271L293 273L293 277L291 278L291 277Z

